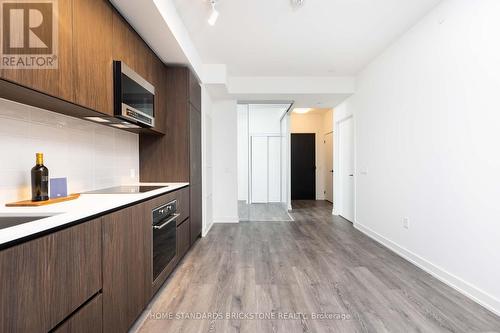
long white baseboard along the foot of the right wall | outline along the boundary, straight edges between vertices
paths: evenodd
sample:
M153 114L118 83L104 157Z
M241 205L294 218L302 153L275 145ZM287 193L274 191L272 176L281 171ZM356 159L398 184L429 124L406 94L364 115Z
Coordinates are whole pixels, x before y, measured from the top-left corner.
M448 286L457 290L459 293L463 294L464 296L470 298L479 305L485 307L486 309L500 316L500 300L485 293L481 289L462 280L461 278L447 272L446 270L434 265L433 263L427 261L426 259L420 257L419 255L399 246L393 241L371 230L370 228L365 227L359 223L354 223L354 227L359 231L361 231L362 233L364 233L365 235L367 235L368 237L370 237L371 239L392 250L400 257L408 260L415 266L431 274L436 279L447 284Z

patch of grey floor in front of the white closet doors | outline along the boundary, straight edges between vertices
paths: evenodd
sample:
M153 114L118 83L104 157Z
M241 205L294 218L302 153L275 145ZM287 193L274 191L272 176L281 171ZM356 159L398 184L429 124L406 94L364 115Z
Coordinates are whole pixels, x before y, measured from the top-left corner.
M240 222L285 222L293 221L282 203L247 204L238 201Z

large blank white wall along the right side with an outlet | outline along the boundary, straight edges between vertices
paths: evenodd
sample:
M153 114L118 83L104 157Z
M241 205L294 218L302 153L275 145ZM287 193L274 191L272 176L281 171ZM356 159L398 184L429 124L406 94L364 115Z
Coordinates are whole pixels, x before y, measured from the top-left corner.
M356 227L500 314L499 17L496 0L444 1L339 109L355 113Z

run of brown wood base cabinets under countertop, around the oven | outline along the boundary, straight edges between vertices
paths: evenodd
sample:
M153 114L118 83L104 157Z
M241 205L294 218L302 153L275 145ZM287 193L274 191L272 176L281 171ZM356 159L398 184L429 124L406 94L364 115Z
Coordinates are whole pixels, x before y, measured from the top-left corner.
M0 332L127 332L191 247L189 194L185 187L1 250ZM177 255L153 282L152 210L172 200Z

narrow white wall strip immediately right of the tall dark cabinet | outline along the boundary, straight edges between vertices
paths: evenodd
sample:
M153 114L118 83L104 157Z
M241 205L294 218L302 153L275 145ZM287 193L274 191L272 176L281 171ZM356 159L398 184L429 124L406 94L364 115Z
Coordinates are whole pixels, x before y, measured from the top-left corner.
M201 88L202 160L203 160L203 231L206 236L212 228L213 217L213 145L212 145L212 98L205 86Z

